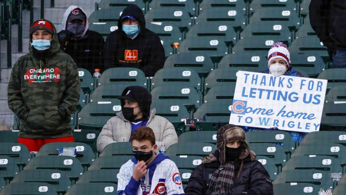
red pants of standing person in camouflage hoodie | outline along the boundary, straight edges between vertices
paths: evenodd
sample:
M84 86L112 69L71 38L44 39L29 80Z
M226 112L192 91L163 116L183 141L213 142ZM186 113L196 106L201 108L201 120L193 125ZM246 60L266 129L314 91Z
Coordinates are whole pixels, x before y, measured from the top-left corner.
M26 147L28 147L29 149L29 152L38 152L43 145L52 142L74 142L74 138L73 136L53 139L31 139L18 137L18 143L26 145Z

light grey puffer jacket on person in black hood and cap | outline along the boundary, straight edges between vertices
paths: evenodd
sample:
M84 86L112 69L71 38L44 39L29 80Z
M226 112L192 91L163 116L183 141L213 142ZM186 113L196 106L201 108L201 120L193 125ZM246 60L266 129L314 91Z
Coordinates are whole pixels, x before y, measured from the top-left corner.
M146 127L153 129L158 146L164 142L168 148L170 145L178 142L178 136L172 123L161 116L156 116L155 113L155 108L150 111ZM111 143L128 142L130 136L131 122L124 118L122 112L119 112L117 116L109 119L106 125L103 126L97 138L97 151L101 153L104 147Z

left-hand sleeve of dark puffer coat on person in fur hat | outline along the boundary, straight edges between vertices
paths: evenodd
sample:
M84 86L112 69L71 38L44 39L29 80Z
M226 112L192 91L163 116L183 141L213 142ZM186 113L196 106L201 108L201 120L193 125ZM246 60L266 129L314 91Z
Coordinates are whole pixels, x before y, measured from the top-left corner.
M189 179L188 186L184 189L185 195L201 195L204 194L204 176L203 164L197 166Z

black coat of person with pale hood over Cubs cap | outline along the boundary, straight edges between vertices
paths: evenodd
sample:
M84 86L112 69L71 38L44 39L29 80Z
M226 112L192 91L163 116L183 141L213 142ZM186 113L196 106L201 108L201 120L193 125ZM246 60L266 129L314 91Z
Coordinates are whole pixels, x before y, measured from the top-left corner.
M70 39L67 44L59 39L60 49L73 58L78 68L87 69L91 74L95 69L102 72L104 39L100 33L90 30L86 31L85 36L81 40Z

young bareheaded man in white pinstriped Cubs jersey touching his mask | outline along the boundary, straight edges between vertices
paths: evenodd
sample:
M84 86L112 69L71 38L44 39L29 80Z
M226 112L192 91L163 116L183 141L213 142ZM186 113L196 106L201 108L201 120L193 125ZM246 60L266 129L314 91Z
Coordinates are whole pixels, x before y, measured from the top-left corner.
M183 195L175 163L167 156L156 154L153 130L140 127L130 140L135 157L120 168L118 195Z

